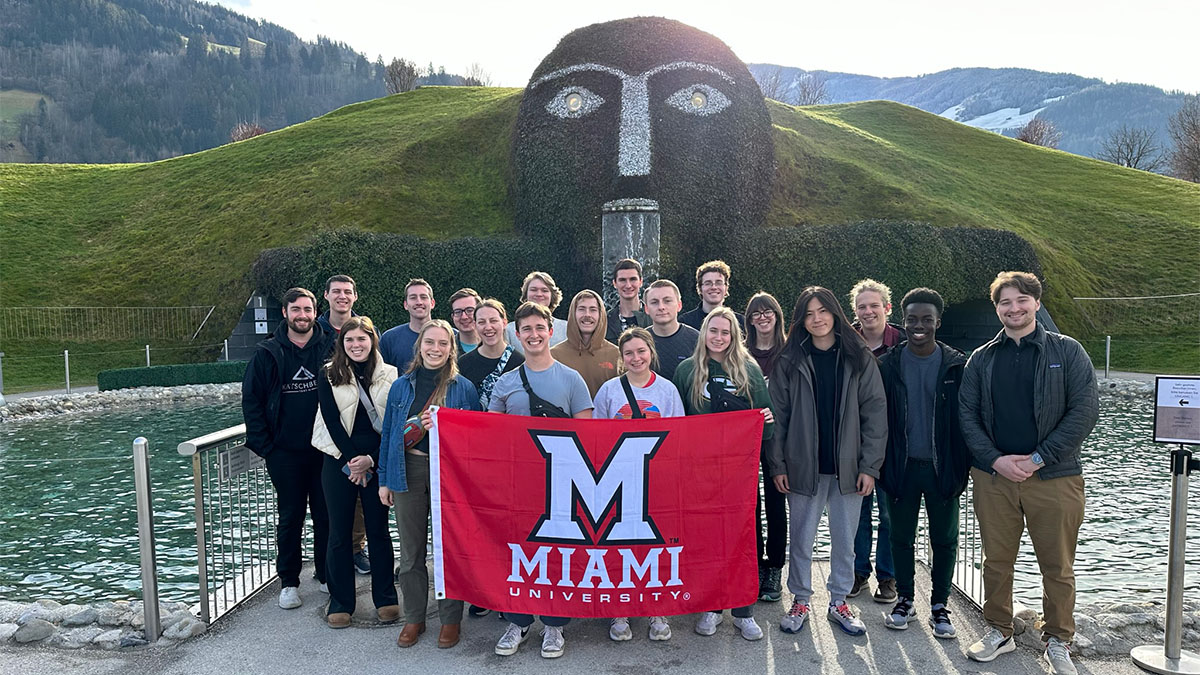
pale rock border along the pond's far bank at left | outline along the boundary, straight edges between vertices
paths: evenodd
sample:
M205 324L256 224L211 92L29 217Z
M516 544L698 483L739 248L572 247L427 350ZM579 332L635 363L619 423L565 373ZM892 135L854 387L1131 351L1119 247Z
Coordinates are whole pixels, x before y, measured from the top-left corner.
M179 387L131 387L108 392L53 394L10 400L6 405L0 405L0 423L55 417L73 412L172 405L184 401L221 402L240 399L240 396L241 382L182 384Z

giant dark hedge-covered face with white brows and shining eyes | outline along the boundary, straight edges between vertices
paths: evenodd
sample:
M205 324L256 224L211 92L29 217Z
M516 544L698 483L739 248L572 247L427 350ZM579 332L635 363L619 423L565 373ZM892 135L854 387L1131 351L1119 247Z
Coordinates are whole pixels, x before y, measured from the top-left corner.
M521 232L598 261L601 205L655 199L664 256L686 265L763 222L774 149L758 85L725 43L635 18L581 28L542 60L512 163Z

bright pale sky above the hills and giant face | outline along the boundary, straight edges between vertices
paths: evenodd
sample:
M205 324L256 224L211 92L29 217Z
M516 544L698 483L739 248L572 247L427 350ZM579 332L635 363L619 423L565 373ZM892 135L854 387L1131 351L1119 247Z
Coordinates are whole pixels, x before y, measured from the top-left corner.
M724 40L746 62L882 77L950 67L1026 67L1200 91L1195 0L217 0L306 40L324 35L372 60L402 56L524 86L566 32L664 16Z

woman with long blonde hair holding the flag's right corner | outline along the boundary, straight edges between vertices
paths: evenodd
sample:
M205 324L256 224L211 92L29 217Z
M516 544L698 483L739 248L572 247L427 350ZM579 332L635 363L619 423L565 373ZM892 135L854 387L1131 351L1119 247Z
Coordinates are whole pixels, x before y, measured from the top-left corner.
M766 420L762 436L770 438L775 418L767 382L742 341L733 310L721 306L704 317L695 351L676 369L674 384L688 414L760 408ZM733 626L743 638L762 639L762 628L754 620L754 604L734 608L731 613ZM696 622L696 632L712 635L721 621L721 610L706 611Z

